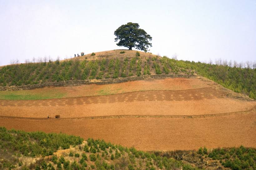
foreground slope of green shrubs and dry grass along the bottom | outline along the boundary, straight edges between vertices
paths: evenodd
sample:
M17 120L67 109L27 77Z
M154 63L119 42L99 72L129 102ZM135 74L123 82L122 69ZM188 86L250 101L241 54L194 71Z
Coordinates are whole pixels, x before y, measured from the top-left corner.
M55 153L57 151L57 153ZM24 132L0 127L0 169L199 170L255 169L256 149L143 152L135 148L66 134Z

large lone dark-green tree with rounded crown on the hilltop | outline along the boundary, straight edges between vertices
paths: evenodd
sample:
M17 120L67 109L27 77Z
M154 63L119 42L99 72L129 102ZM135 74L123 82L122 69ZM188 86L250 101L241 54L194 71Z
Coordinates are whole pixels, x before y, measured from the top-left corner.
M135 47L138 50L147 51L152 46L149 43L152 37L139 27L137 23L128 22L117 28L114 35L116 36L115 42L118 40L119 42L116 45L128 47L129 50Z

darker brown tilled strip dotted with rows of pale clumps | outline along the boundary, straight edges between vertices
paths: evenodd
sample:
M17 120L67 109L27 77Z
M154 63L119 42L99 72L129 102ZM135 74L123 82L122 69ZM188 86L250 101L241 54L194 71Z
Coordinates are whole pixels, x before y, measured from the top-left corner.
M136 101L187 101L215 99L226 96L223 91L212 87L205 87L191 90L157 90L139 91L117 95L76 97L49 100L0 100L0 106L66 106L82 104L104 104L115 102L136 102Z

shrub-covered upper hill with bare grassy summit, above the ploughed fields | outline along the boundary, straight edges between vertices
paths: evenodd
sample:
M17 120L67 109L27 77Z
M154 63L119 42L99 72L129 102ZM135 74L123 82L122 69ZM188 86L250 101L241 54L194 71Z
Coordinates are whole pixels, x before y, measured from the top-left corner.
M120 53L124 51L125 53ZM256 99L256 69L177 61L150 53L112 50L63 61L8 65L0 68L0 86L32 85L67 80L125 78L142 75L201 75L225 88Z

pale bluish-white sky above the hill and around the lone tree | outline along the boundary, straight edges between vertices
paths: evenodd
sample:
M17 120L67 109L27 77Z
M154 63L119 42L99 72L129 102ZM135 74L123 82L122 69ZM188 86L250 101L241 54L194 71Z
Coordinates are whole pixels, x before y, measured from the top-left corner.
M114 31L135 22L150 52L179 60L256 60L256 0L0 0L0 66L113 49Z

